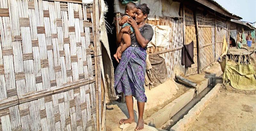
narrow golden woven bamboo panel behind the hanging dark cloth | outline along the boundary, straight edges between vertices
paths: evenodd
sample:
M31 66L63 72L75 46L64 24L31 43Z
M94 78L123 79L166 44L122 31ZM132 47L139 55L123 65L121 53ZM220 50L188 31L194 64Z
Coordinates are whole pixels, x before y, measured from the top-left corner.
M196 27L195 25L186 25L186 42L185 44L191 43L191 41L194 42L194 57L193 61L195 64L192 64L191 67L186 68L185 75L191 75L197 73L197 45L196 45Z

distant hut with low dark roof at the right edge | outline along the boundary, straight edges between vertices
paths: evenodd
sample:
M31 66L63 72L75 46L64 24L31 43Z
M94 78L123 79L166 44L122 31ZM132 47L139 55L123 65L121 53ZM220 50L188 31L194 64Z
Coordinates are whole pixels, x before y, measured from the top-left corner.
M248 40L252 40L252 42L255 43L255 29L256 28L249 23L234 19L230 20L230 36L235 40L236 46L238 43L246 44L246 37Z

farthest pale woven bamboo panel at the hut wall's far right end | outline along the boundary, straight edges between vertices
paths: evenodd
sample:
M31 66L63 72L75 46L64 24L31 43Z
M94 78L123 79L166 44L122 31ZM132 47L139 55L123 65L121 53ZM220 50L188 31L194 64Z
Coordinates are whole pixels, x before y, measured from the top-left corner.
M221 56L222 53L222 45L224 36L227 38L227 30L218 27L217 29L217 43L216 43L216 59Z

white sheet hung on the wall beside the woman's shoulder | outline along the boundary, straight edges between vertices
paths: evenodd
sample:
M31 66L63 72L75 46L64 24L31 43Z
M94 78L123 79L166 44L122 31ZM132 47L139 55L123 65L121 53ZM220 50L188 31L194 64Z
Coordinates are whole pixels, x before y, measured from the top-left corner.
M169 25L152 25L154 35L147 47L165 47L170 44L171 28Z

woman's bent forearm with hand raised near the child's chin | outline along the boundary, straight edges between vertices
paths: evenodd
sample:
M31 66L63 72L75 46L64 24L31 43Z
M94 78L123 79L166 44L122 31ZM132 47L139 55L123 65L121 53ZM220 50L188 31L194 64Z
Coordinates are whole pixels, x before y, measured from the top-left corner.
M147 47L147 44L149 43L149 40L145 39L142 34L140 33L139 31L139 28L138 28L138 25L137 23L135 22L135 20L133 20L131 17L128 18L128 21L127 21L129 24L132 25L133 29L134 29L134 32L135 32L135 36L136 36L136 40L138 41L138 43L140 44L140 46L142 48L146 48Z

